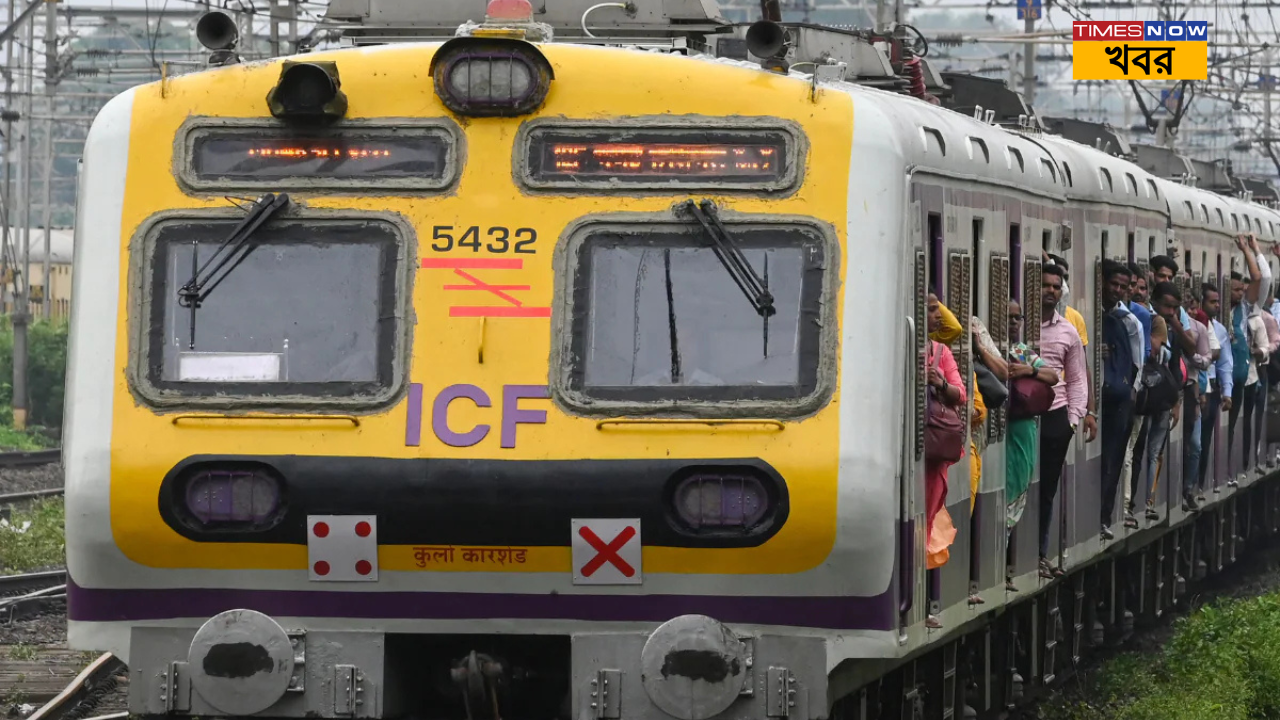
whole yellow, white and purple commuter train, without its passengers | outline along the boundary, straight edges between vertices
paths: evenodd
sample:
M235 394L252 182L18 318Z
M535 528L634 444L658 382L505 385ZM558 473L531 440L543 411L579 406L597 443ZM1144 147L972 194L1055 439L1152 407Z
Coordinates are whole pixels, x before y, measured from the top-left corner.
M1078 438L1066 575L1037 574L1036 512L1006 568L996 411L925 593L927 293L1007 342L1047 251L1092 333L1102 258L1216 281L1238 233L1280 241L1276 210L799 67L494 14L96 118L69 637L128 662L131 711L995 716L1275 530L1275 464L1219 446L1202 512L1166 461L1160 520L1103 542Z

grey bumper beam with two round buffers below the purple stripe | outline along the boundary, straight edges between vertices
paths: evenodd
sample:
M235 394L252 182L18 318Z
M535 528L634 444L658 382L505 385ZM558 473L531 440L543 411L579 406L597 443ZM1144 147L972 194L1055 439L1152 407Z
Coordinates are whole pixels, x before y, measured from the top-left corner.
M653 632L573 633L567 657L548 652L547 666L529 673L486 652L511 647L512 637L448 635L452 646L438 642L442 637L292 630L252 610L221 612L198 629L138 626L129 710L201 717L412 714L492 720L521 715L503 707L516 702L509 698L513 679L524 679L529 689L530 678L535 687L545 678L539 692L559 696L556 715L573 720L827 715L822 638L749 635L704 615L681 615ZM460 642L476 650L460 653ZM404 652L406 647L416 650ZM444 655L428 657L433 652ZM461 701L451 703L453 710L431 702L444 697L433 696L442 687L445 693L452 687L457 697L449 700Z

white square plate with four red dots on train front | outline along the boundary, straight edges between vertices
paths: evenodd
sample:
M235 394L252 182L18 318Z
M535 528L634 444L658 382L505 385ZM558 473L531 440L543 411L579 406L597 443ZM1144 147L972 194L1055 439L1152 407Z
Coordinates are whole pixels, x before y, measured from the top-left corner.
M378 579L376 515L307 515L307 564L314 582Z

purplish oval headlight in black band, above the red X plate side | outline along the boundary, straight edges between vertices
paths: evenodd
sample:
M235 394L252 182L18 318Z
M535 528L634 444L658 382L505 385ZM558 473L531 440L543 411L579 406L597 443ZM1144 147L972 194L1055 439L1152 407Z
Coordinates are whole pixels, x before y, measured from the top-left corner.
M682 473L675 480L671 503L680 523L694 532L750 530L774 506L765 482L753 468L699 468Z

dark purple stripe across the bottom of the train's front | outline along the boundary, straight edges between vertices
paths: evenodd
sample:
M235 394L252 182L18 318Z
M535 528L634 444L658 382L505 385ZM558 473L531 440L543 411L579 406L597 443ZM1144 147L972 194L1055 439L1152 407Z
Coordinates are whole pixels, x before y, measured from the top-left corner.
M717 597L682 594L490 594L430 592L241 591L225 588L93 589L67 580L72 620L211 618L244 607L274 616L410 620L596 620L663 623L700 614L723 623L893 630L890 592L876 597Z

